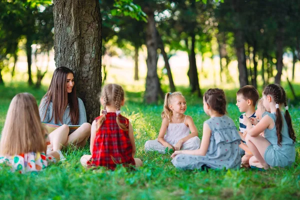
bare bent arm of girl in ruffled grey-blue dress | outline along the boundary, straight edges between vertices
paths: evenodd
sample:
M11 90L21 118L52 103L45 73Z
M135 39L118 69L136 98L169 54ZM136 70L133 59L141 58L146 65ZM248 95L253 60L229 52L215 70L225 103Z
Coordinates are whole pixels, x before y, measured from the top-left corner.
M203 124L203 135L199 149L196 150L175 150L171 155L172 158L177 154L190 154L190 155L206 155L209 143L210 143L211 130L207 123Z

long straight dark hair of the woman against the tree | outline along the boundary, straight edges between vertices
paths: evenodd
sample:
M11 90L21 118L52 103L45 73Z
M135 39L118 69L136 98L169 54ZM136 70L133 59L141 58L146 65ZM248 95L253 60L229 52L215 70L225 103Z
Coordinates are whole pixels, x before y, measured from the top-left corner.
M74 76L73 71L64 66L57 67L54 70L50 86L42 99L44 103L40 103L40 106L43 104L43 106L46 106L45 110L47 110L50 101L52 101L53 111L48 122L54 117L55 123L58 123L58 121L62 123L63 113L67 104L69 104L71 123L78 124L79 108L75 85L73 86L71 93L67 93L66 90L66 76L68 73L72 73ZM45 119L45 115L43 120Z

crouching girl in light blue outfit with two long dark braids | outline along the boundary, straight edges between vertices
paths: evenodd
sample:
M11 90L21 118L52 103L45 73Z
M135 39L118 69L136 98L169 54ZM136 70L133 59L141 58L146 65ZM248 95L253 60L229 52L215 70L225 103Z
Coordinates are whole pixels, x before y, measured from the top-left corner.
M295 161L295 133L286 105L285 91L280 85L269 84L263 92L263 105L266 112L255 126L251 120L246 121L246 142L253 156L249 164L253 167L267 169L274 166L290 166ZM282 115L279 104L284 104ZM264 130L264 137L260 132Z

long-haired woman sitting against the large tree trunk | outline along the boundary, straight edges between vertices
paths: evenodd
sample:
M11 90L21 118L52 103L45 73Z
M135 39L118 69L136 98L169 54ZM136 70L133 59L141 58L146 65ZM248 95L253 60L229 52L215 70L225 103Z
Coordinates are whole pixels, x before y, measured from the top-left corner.
M48 91L39 104L39 114L42 122L61 125L49 134L49 149L58 151L62 159L62 146L85 145L90 135L90 124L86 122L83 102L76 96L72 70L64 66L54 70ZM69 134L68 125L80 127Z

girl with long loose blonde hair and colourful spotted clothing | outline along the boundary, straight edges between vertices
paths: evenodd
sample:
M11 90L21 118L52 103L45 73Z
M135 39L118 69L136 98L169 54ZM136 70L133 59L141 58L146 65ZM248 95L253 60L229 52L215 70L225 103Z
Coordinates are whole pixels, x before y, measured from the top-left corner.
M45 154L48 135L40 122L35 98L30 93L15 95L9 105L0 141L0 163L12 171L39 171L59 160L56 151Z

